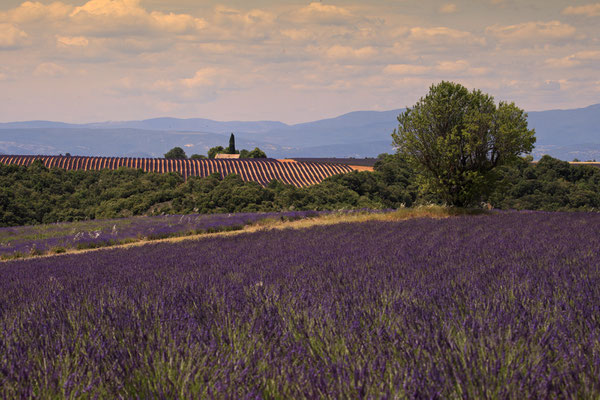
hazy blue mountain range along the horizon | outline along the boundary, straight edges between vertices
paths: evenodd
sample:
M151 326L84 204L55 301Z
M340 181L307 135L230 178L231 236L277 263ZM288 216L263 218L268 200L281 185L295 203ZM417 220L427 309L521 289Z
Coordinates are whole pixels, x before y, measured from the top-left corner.
M295 125L277 121L155 118L143 121L66 124L49 121L0 123L0 153L162 157L179 146L188 155L213 146L260 147L268 156L374 157L391 153L390 134L403 110L357 111ZM534 158L600 160L600 104L529 113L535 128Z

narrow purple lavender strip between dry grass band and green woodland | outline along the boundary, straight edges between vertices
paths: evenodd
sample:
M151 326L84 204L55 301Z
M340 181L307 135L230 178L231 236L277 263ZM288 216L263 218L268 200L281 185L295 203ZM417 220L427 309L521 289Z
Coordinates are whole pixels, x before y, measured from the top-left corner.
M93 248L175 235L241 229L267 218L299 219L322 212L190 214L132 217L0 228L0 257L46 253L52 249Z

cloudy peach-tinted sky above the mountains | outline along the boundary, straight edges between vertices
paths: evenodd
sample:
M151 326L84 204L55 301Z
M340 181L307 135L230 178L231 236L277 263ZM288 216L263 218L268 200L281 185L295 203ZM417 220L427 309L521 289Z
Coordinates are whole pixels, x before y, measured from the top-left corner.
M528 111L600 103L600 2L0 0L0 121L299 123L442 80Z

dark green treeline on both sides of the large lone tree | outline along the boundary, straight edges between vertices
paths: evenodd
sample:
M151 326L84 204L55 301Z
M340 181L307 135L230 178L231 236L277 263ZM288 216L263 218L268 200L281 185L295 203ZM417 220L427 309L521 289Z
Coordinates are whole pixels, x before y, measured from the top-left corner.
M503 167L489 201L496 208L593 210L600 206L600 169L543 157ZM267 187L237 175L187 181L178 174L141 170L67 171L41 162L0 165L0 225L29 225L162 213L398 208L439 203L420 193L413 172L397 155L381 155L374 172L337 175L296 188Z

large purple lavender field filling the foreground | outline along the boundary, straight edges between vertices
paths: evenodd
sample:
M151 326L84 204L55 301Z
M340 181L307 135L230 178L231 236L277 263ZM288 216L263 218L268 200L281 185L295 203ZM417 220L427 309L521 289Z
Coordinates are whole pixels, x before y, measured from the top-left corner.
M0 264L5 398L598 398L600 214Z

